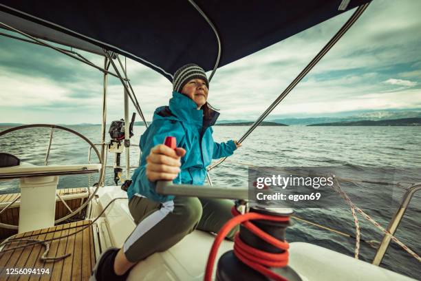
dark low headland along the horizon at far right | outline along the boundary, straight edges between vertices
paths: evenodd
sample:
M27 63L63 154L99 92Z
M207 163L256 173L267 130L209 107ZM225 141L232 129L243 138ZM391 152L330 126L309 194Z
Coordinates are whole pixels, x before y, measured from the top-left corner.
M421 126L421 118L400 118L380 121L346 121L334 123L311 124L307 126Z

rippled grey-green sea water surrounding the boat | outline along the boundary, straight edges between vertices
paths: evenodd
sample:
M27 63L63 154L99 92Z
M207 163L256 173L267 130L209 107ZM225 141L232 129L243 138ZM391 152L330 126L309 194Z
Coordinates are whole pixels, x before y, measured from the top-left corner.
M85 135L93 143L100 143L100 125L67 127ZM213 137L217 142L238 139L248 129L248 127L222 126L213 128ZM8 127L0 127L0 131L4 129ZM131 165L137 166L140 158L138 143L144 127L136 126L134 132L135 135L131 138L133 146L130 149L130 161ZM25 163L44 165L49 138L50 128L32 128L12 132L0 137L0 152L14 154ZM411 168L411 171L420 171L418 174L421 176L420 148L421 127L257 127L243 142L243 147L239 148L226 162L210 171L210 177L214 185L246 188L248 187L248 167L252 165L347 167L350 170L350 178L356 176L364 167L378 167L378 178L382 179L387 178L382 173L382 167L396 167L400 170ZM56 129L48 163L50 165L85 164L88 162L88 149L89 145L78 136ZM91 163L98 163L94 150L91 151ZM114 155L109 154L107 165L113 164ZM122 154L121 164L125 165L125 154ZM123 174L125 174L124 171ZM107 169L105 184L114 185L113 178L113 169ZM91 178L91 183L96 183L96 180L98 180L97 175ZM86 187L87 184L87 175L61 176L58 188ZM395 191L391 204L389 189L384 189L381 185L373 185L369 188L376 189L377 192L365 192L364 202L356 200L354 203L357 206L358 203L364 205L363 211L386 228L404 191L403 189ZM379 193L379 189L384 190L384 193ZM19 192L18 180L0 182L0 194L11 192ZM354 192L358 192L358 189ZM361 192L363 192L363 187L361 187ZM301 208L294 211L300 218L355 236L354 219L345 201L343 208ZM381 241L382 232L362 216L358 218L361 238ZM415 194L396 231L396 237L415 253L420 254L419 233L421 233L421 194ZM354 256L354 239L308 225L305 222L294 220L294 225L287 229L287 239L289 242L317 244L348 256ZM375 253L376 249L361 242L359 255L361 260L371 262ZM391 242L381 266L421 279L420 263L394 242Z

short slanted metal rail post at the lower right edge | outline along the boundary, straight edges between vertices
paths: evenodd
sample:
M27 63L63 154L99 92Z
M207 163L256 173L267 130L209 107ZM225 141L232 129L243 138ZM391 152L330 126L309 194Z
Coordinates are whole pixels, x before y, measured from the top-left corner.
M383 236L382 242L377 249L376 256L374 256L372 262L374 265L379 265L382 262L387 248L389 247L391 236L395 234L396 229L398 229L400 221L402 220L405 211L407 211L407 207L409 202L411 202L413 194L415 194L415 192L418 190L421 190L421 183L416 183L415 185L409 187L407 192L405 192L404 196L402 197L400 207L396 210L396 213L393 215L393 218L390 220L389 225L387 226L387 231L389 231L390 234L386 233L385 236Z

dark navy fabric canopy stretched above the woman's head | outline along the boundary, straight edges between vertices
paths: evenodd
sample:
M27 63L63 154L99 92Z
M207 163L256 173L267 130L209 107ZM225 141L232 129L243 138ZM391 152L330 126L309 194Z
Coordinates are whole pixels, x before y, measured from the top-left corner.
M219 66L369 2L194 1L219 34ZM208 71L217 60L215 32L188 0L0 0L0 21L34 37L96 54L104 54L102 48L117 52L170 81L175 70L186 63L197 63Z

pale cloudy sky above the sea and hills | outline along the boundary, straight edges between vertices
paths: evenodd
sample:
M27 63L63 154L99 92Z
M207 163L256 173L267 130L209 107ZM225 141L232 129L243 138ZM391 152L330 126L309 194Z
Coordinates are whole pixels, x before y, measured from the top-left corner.
M257 118L352 12L220 68L208 98L220 119ZM374 0L268 119L421 110L420 12L419 0ZM100 56L80 53L102 65ZM127 69L151 120L168 103L171 83L134 61ZM108 120L122 118L122 94L110 77ZM0 98L0 123L100 123L102 74L54 50L0 37Z

